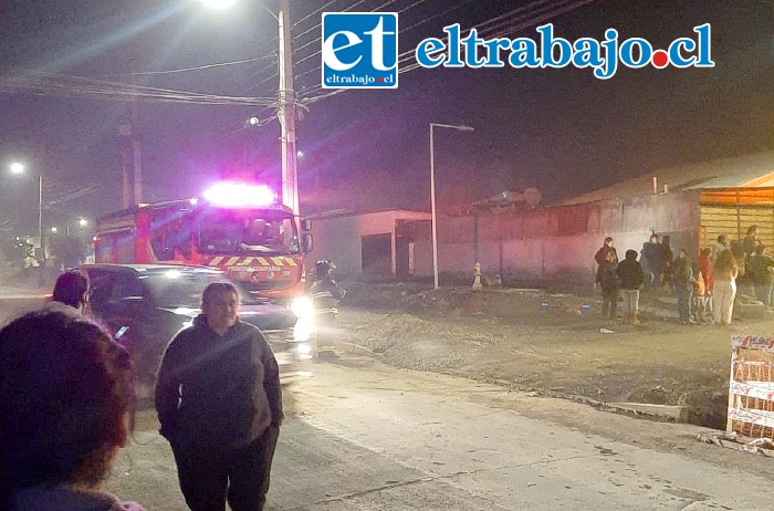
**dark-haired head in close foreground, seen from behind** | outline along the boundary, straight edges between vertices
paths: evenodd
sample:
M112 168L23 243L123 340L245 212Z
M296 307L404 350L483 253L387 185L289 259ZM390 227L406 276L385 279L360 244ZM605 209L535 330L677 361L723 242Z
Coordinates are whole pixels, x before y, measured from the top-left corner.
M98 491L126 444L129 357L75 310L0 330L0 509L140 511Z

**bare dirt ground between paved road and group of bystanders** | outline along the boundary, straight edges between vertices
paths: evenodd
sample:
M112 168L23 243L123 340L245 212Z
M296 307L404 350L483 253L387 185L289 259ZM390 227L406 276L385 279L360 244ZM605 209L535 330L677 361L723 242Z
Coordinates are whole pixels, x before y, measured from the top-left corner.
M590 404L681 405L690 423L718 429L725 428L731 335L774 327L774 316L753 307L731 326L681 325L667 292L644 293L642 324L632 326L602 319L590 294L343 285L342 338L390 365Z

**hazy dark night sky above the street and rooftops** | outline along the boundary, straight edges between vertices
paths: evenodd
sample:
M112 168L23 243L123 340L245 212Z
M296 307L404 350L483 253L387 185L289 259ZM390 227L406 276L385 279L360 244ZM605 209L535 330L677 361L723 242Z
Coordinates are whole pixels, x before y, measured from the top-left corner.
M291 1L302 104L327 92L315 55L321 13L306 17L355 3ZM274 0L265 6L276 10ZM550 21L571 41L604 39L615 28L621 39L663 48L709 22L717 66L619 67L607 81L575 67L419 69L401 73L397 90L308 103L296 122L302 212L429 209L430 122L475 128L436 132L440 209L533 186L553 202L659 167L774 149L771 0L367 0L354 11L402 11L404 52L442 38L447 24L468 29L520 7L498 35L535 39L535 27ZM72 83L13 92L9 77L35 71L223 96L276 94L276 22L254 0L229 11L194 0L3 0L0 25L0 225L35 225L36 182L9 174L14 159L43 170L46 202L55 200L49 225L121 207L117 133L126 103L76 95L85 86ZM211 65L222 63L232 64ZM201 66L209 67L170 72ZM266 122L244 128L251 115ZM221 176L279 185L271 107L143 102L139 133L146 200L190 197Z

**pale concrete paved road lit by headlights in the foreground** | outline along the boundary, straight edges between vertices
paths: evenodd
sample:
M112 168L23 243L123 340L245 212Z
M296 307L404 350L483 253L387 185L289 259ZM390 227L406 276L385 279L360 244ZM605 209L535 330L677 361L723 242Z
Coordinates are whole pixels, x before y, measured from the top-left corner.
M771 459L699 444L690 426L358 358L320 364L286 400L275 510L774 509ZM154 428L140 417L144 445L108 489L185 510Z

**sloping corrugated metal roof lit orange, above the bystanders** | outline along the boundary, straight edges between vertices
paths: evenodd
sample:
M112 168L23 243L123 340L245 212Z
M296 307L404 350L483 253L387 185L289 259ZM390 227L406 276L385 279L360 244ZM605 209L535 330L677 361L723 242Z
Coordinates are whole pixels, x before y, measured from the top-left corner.
M593 202L665 191L747 188L774 185L774 150L736 158L668 167L563 200L562 205ZM665 189L666 187L666 189Z

